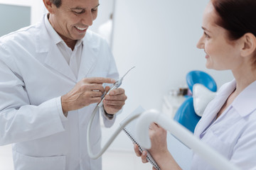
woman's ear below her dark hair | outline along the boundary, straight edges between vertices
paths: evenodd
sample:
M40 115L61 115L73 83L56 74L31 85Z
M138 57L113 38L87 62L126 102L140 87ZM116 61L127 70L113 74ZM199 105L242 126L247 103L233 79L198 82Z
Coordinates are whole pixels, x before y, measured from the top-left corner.
M256 50L256 38L252 33L246 33L242 36L242 57L252 55Z

